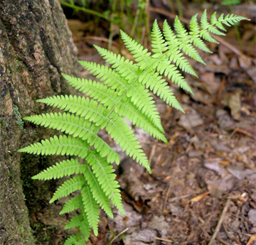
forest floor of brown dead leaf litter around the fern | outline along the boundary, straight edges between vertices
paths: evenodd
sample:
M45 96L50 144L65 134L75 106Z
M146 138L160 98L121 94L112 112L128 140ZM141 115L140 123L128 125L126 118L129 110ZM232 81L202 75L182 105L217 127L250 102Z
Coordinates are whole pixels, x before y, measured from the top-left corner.
M184 17L213 9L206 5L184 5ZM235 11L251 18L246 5ZM154 13L151 21L157 18L161 26L167 17ZM69 24L79 60L103 63L92 45L107 48L107 23L97 24L97 38L93 23L75 19ZM99 236L92 234L87 244L107 244L110 231L117 235L127 228L113 245L256 244L255 19L242 22L239 30L245 55L240 53L235 28L230 28L223 38L228 44L208 43L213 53L201 53L207 65L189 60L198 74L198 78L186 75L194 95L170 82L186 114L156 98L169 143L134 129L152 173L120 153L117 176L125 216L114 212L110 219L102 214ZM113 50L118 41L114 40ZM234 53L233 47L239 52ZM85 70L81 74L92 79ZM48 244L63 244L62 234L59 229Z

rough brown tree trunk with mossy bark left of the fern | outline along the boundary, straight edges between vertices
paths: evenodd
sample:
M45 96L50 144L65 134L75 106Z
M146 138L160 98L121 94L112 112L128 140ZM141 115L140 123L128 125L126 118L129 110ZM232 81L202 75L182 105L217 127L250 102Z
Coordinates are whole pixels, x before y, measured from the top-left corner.
M0 244L35 244L23 187L42 160L17 151L49 131L22 117L47 110L36 99L70 93L60 73L74 75L76 55L58 0L0 1Z

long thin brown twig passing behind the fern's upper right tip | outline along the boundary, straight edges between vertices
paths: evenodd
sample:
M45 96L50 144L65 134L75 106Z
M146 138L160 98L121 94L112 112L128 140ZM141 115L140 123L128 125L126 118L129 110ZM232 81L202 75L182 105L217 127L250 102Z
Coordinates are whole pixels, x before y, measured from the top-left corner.
M159 8L149 8L149 11L151 12L155 12L155 13L161 13L164 16L168 16L169 18L176 18L176 15L174 13L169 13L169 11L165 11L163 9L159 9ZM182 22L189 24L190 21L188 21L188 19L186 18L181 18L178 17ZM233 46L232 44L228 43L227 41L223 40L223 38L220 38L219 36L216 36L212 33L210 33L211 36L213 36L213 38L215 38L216 40L218 40L219 43L225 45L227 48L229 48L230 50L232 50L234 53L236 53L238 56L245 58L245 59L249 59L249 57L247 55L244 55L238 48L235 48L235 46Z

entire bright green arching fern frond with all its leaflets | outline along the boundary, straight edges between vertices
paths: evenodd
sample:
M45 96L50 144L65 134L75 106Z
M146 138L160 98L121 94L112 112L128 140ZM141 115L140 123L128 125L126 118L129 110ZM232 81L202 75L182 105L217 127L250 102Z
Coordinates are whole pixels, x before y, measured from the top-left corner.
M106 129L127 156L137 160L151 172L142 147L132 128L124 122L124 117L139 129L167 143L151 94L156 94L166 104L183 111L163 75L178 87L193 93L181 73L183 71L197 76L185 55L204 64L196 50L199 48L210 53L203 39L217 43L210 33L224 35L220 32L225 31L223 24L231 26L244 19L246 18L233 14L217 18L213 13L209 23L205 11L201 17L201 26L198 24L197 15L191 18L190 31L176 18L176 33L167 21L164 21L163 31L155 21L151 33L152 53L121 31L124 45L132 54L134 62L95 45L111 67L85 61L80 61L80 64L100 82L63 74L67 82L80 92L86 93L87 98L65 95L38 100L65 112L28 116L24 119L50 129L58 129L65 135L53 136L19 151L72 156L70 160L56 163L33 177L49 180L72 175L58 188L50 202L80 190L80 194L70 199L60 212L63 214L80 208L80 215L75 215L65 227L78 227L79 234L71 236L65 244L85 244L90 236L90 229L97 236L100 208L113 217L112 203L124 214L119 185L112 168L112 163L119 164L119 156L97 136L98 131Z

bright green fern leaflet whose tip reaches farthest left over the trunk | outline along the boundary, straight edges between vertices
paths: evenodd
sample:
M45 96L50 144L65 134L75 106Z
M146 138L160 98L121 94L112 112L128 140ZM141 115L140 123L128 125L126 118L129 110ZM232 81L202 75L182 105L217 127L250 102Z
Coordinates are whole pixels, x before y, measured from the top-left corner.
M26 152L41 155L67 155L80 156L85 158L90 146L86 141L72 136L53 136L49 140L43 140L41 143L33 143L18 150L18 152Z

